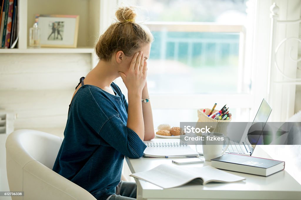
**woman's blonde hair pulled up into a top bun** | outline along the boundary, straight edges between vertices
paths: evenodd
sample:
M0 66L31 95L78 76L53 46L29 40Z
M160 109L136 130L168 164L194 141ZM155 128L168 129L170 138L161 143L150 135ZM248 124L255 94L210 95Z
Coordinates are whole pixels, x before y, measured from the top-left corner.
M95 44L95 53L102 61L112 61L118 51L133 56L154 41L147 26L134 22L136 13L132 6L118 8L116 17L116 23L112 23Z

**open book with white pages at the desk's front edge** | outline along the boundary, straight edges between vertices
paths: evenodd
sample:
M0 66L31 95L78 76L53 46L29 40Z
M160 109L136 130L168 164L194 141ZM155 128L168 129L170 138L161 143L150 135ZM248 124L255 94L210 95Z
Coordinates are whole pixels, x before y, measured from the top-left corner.
M200 184L203 185L209 182L230 183L245 179L211 166L197 168L169 164L162 164L151 170L134 173L130 176L148 181L164 189L182 186L195 179L200 180Z

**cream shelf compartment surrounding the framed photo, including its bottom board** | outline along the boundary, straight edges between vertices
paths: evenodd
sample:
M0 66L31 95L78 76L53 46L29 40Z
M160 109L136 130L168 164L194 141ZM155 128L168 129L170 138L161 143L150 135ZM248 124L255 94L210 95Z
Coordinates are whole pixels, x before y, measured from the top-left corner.
M91 48L99 38L100 2L100 0L18 0L19 39L17 47L19 50L0 50L0 53L92 53L87 50L88 48L81 47ZM28 32L35 22L36 14L79 15L78 48L29 50L27 47L29 44ZM56 50L57 52L55 52Z

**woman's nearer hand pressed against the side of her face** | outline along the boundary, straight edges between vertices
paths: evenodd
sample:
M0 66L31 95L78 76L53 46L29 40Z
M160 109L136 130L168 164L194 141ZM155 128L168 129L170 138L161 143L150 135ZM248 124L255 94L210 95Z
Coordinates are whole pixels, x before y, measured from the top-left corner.
M141 94L147 77L147 62L142 51L135 53L126 74L118 72L129 92Z

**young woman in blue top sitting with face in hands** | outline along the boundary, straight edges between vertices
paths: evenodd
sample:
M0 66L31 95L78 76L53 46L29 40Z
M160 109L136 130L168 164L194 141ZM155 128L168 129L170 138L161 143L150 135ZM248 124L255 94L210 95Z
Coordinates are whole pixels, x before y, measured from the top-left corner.
M147 59L153 36L135 23L130 7L116 11L117 21L99 38L100 61L76 87L53 170L96 199L134 199L136 184L120 181L124 156L140 158L154 138L147 90ZM122 78L128 101L113 83Z

